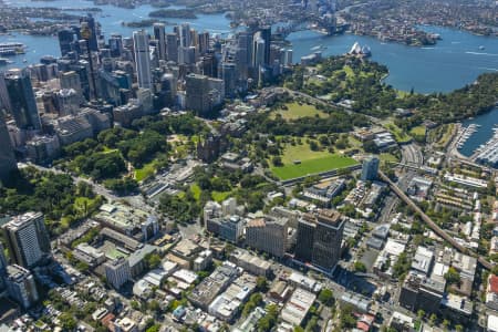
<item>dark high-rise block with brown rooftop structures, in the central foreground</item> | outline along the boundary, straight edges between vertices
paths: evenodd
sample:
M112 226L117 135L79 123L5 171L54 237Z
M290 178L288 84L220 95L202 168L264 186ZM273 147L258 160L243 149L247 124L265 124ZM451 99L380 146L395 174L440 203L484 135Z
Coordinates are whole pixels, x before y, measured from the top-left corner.
M332 272L341 258L344 218L335 210L303 215L298 221L295 259Z

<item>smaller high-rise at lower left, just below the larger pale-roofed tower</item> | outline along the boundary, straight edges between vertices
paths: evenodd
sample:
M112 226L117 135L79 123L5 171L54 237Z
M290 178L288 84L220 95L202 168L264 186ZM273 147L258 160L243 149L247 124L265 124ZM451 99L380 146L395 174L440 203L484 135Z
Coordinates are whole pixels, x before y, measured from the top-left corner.
M6 286L9 297L28 309L39 300L33 274L20 266L7 267Z

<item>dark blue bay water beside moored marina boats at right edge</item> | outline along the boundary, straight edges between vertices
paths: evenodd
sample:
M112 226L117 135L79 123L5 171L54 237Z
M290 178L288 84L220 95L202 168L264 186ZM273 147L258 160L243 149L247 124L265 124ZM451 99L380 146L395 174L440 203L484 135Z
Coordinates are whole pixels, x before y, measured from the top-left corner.
M495 134L492 129L498 124L498 107L461 123L464 127L468 127L471 124L477 126L476 132L471 134L461 148L458 149L463 155L468 157L474 154L476 148L483 144L486 144L486 142L488 142Z

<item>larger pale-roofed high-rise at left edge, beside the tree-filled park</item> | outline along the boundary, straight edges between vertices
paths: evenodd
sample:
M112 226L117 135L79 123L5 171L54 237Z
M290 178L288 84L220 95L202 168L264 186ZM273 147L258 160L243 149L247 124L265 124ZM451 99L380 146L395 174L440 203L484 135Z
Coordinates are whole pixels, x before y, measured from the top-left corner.
M2 226L12 260L24 268L39 264L50 255L50 239L41 212L13 217Z

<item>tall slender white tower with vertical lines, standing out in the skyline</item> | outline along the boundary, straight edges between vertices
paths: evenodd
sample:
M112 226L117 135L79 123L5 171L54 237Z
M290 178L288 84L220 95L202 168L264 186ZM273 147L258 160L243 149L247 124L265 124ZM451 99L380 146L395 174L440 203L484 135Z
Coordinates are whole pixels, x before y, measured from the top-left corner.
M152 89L151 54L147 32L144 30L133 32L133 46L135 51L138 87Z

